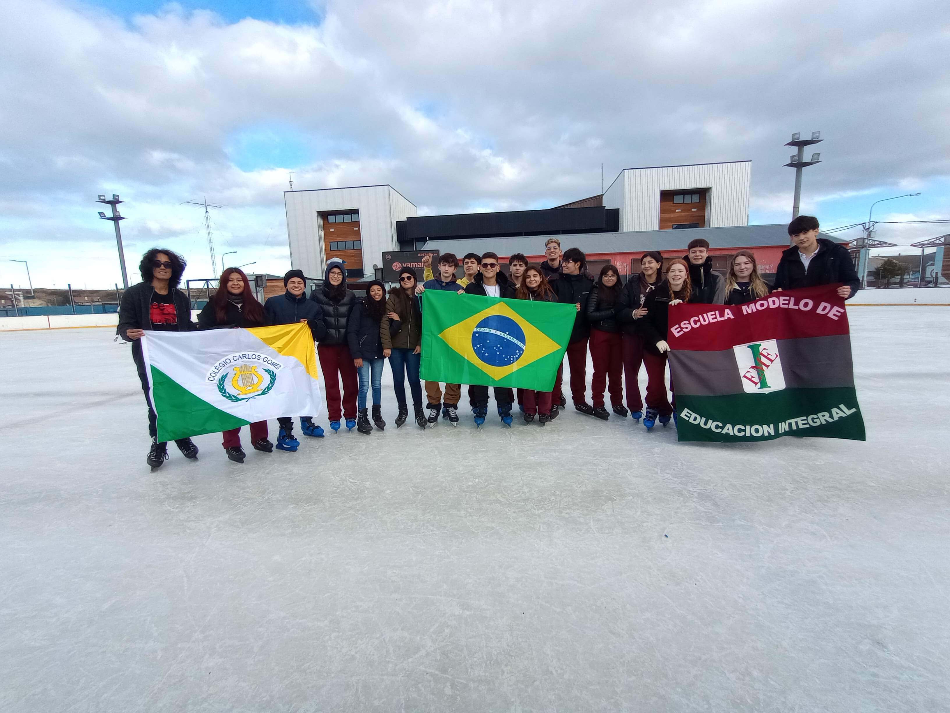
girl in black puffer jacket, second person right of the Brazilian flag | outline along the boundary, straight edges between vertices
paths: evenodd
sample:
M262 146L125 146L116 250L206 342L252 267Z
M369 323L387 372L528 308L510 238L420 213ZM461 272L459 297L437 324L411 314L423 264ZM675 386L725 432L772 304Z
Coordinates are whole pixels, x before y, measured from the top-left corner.
M623 354L620 346L620 325L615 308L620 299L620 271L615 265L600 268L600 277L587 299L587 321L591 325L590 350L594 361L591 379L594 415L606 421L610 418L603 406L604 388L610 388L610 404L614 413L626 416L623 408Z

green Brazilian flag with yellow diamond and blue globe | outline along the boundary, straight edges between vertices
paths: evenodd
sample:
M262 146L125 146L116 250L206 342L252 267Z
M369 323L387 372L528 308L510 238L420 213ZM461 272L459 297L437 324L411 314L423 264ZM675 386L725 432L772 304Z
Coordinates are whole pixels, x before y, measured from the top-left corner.
M577 316L573 304L427 290L422 306L425 380L554 388Z

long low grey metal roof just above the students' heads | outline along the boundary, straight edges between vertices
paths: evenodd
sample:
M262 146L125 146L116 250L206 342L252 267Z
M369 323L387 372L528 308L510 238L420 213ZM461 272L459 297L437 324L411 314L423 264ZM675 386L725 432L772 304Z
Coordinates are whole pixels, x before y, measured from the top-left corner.
M843 241L834 235L820 233L821 238ZM637 230L629 233L580 233L576 235L530 235L523 238L476 238L448 241L426 241L425 250L442 253L484 253L493 250L500 256L514 253L543 255L544 242L557 238L565 250L579 247L585 253L639 253L647 250L686 250L690 241L705 238L712 248L788 247L788 223L774 225L732 225L723 228L689 228L686 230Z

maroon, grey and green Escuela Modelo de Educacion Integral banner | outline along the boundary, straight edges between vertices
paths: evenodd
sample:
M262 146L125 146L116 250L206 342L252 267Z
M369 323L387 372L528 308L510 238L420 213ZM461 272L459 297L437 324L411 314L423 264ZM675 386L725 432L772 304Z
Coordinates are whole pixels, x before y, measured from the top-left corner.
M864 440L839 285L670 308L681 441Z

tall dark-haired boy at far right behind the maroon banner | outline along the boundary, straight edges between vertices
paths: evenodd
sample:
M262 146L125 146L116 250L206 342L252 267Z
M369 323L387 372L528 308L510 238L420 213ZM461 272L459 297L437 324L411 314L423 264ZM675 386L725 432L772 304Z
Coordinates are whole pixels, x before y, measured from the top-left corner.
M775 270L775 290L814 287L844 282L839 297L850 299L858 293L861 279L844 245L818 237L818 219L798 216L788 223L788 237L794 243L782 253Z

